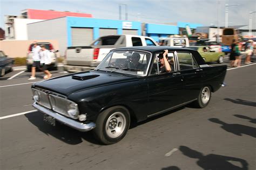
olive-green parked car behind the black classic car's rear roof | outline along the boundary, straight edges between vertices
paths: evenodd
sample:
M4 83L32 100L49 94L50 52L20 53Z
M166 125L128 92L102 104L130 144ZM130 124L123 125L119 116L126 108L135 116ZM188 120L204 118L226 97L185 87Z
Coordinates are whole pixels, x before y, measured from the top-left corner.
M223 52L213 52L208 46L190 46L190 49L194 49L199 52L199 54L203 57L205 62L214 62L223 63L223 56L225 53Z

